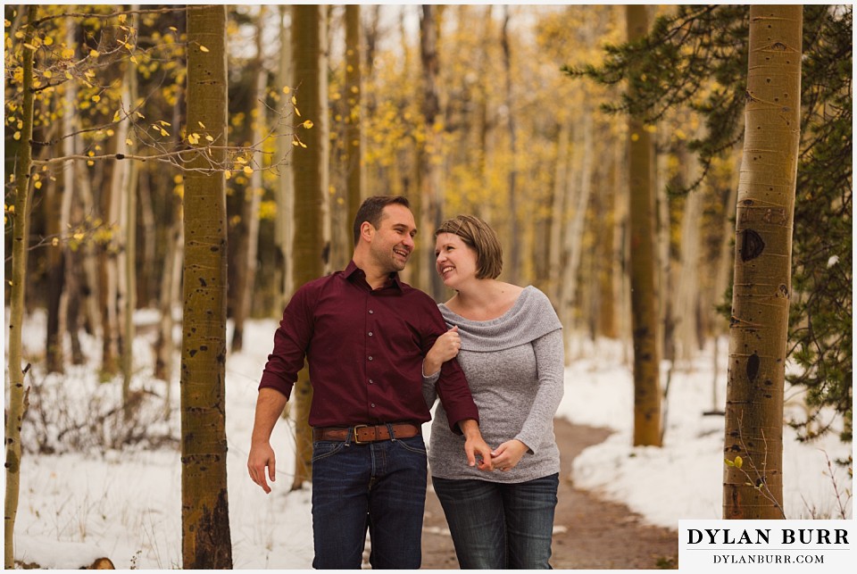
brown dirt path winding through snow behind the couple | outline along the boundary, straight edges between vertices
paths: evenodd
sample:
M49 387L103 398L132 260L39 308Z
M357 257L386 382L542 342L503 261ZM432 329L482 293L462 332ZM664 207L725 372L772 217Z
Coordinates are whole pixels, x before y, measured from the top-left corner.
M571 462L587 446L597 445L611 431L554 422L560 445L559 503L553 520L553 558L556 570L678 568L678 535L669 528L645 525L623 504L604 502L597 495L575 488L570 481ZM453 541L443 508L431 487L426 498L422 534L422 568L457 570Z

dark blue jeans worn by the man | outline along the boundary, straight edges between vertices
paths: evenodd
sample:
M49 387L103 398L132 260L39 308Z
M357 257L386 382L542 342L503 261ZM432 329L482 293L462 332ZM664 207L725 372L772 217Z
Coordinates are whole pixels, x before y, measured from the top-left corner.
M360 569L368 528L373 569L419 569L427 481L422 437L313 443L312 567Z

